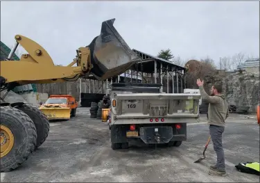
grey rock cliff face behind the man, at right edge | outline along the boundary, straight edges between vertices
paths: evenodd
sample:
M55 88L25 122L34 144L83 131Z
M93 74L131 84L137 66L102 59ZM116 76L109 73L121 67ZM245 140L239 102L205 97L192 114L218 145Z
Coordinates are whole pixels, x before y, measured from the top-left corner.
M259 74L228 74L223 85L229 104L250 106L250 111L256 111L259 104Z

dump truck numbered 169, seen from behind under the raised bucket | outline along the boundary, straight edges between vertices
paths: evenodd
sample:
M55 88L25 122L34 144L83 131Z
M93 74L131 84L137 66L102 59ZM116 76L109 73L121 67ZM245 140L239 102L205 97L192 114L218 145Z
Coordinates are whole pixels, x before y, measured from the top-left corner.
M200 93L160 93L159 83L112 83L110 130L113 150L131 141L180 146L187 123L198 122Z

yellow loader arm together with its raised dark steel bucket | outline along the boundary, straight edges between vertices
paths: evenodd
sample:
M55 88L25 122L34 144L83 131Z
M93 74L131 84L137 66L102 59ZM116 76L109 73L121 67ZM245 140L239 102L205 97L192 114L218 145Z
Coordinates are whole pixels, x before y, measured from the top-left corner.
M116 31L114 20L102 22L100 35L88 46L77 49L76 58L67 66L54 65L51 56L37 42L15 35L15 47L5 61L0 61L1 90L28 83L76 81L90 73L102 81L125 72L140 58ZM28 54L23 54L19 61L12 61L18 45Z

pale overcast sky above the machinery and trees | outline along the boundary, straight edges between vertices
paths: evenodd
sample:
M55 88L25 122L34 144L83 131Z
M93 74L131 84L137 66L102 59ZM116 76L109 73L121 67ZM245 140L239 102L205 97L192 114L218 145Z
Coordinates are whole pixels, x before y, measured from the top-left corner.
M1 1L1 41L25 35L67 65L112 18L130 48L154 56L168 48L185 61L259 56L259 1Z

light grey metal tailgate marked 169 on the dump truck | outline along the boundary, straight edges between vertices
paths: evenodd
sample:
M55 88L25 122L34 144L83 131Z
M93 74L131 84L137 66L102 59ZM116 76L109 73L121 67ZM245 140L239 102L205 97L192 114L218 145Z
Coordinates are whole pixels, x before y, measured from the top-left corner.
M116 119L198 118L198 93L132 93L114 96Z

